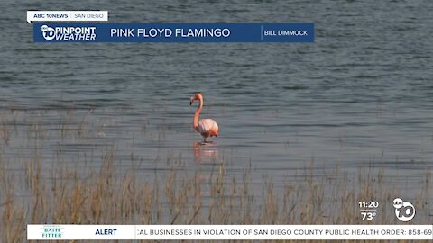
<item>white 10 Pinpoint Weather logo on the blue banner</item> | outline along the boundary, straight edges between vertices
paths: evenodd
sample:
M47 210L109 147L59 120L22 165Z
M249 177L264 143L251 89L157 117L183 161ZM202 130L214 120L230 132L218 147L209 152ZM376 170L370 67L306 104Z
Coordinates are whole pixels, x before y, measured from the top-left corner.
M42 25L42 36L45 40L95 40L97 27L50 27Z

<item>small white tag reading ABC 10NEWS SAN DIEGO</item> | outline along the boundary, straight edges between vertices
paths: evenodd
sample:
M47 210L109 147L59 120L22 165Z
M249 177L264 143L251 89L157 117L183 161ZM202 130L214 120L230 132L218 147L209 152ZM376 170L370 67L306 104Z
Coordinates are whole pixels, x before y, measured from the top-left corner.
M108 21L108 11L27 11L27 22Z

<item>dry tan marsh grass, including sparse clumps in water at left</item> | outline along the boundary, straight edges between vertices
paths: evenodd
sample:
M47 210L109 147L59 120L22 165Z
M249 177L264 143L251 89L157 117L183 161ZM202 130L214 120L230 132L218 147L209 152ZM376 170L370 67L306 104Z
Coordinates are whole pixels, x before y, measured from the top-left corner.
M60 137L85 139L85 117L75 124L60 126ZM70 117L69 113L65 114ZM2 116L0 116L2 117ZM14 116L16 121L16 116ZM0 130L10 130L16 122L5 122ZM14 134L1 131L1 134ZM361 220L357 202L392 202L399 188L385 186L383 171L372 167L348 173L339 166L318 176L314 159L299 172L272 178L263 175L254 184L253 168L242 175L227 173L225 157L216 157L210 171L199 164L188 170L180 155L169 153L167 170L155 173L143 169L139 159L127 169L116 156L116 147L106 146L100 166L81 161L84 167L59 163L47 168L42 163L41 144L50 132L34 122L27 131L34 147L23 159L23 174L8 168L0 157L0 241L24 242L27 224L390 224L398 223L388 207L381 203L379 215L371 222ZM8 135L9 136L9 135ZM2 135L0 136L5 139ZM7 142L8 139L5 139ZM4 146L5 143L4 143ZM5 147L4 147L5 149ZM57 149L53 157L62 157ZM91 159L80 157L79 159ZM193 163L185 161L185 163ZM414 206L428 207L432 175L426 171ZM279 182L279 184L275 184ZM282 182L282 184L281 184ZM279 188L277 188L277 186ZM257 190L257 187L261 190ZM28 192L21 197L17 191ZM420 217L419 223L431 223Z

